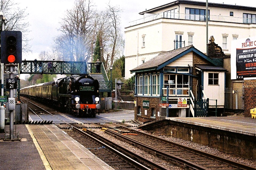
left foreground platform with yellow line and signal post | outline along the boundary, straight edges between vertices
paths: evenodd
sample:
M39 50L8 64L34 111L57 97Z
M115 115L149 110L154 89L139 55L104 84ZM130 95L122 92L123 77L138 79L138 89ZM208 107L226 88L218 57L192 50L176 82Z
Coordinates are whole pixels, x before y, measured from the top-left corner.
M21 141L3 141L0 133L0 169L113 170L53 124L17 125L16 131Z

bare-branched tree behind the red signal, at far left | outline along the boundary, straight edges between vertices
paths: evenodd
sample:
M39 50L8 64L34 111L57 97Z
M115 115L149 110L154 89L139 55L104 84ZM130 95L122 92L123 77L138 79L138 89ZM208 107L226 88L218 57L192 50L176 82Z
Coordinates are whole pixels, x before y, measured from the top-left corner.
M14 3L13 0L5 1L5 30L22 32L22 52L31 52L30 39L27 38L27 33L30 32L27 16L26 9L19 8L19 3ZM0 30L2 31L2 23L0 24Z

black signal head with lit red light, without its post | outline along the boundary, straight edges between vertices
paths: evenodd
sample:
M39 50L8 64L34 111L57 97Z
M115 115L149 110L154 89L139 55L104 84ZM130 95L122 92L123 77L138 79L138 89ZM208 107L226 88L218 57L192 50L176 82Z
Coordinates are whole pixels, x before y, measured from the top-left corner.
M20 31L1 32L1 63L22 63L22 33Z

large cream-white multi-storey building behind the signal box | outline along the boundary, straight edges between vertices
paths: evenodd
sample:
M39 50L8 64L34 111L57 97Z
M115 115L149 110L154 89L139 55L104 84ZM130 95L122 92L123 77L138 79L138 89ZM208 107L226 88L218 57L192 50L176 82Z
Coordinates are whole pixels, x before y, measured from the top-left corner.
M256 7L208 3L208 13L206 38L205 2L178 0L140 12L144 18L125 28L125 78L161 52L193 44L206 54L211 35L226 55L232 40L256 36Z

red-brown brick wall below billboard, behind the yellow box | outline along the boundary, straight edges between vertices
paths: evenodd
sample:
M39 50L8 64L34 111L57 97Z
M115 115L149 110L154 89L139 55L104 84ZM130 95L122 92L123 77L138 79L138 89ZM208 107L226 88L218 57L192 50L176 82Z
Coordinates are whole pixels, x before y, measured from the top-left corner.
M250 109L256 108L256 80L244 80L245 117L251 117Z

